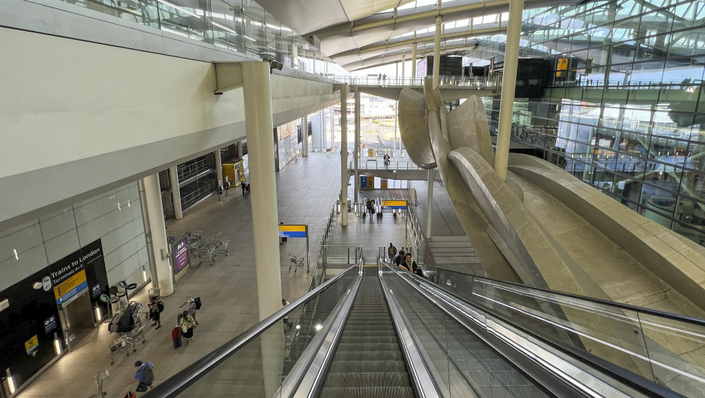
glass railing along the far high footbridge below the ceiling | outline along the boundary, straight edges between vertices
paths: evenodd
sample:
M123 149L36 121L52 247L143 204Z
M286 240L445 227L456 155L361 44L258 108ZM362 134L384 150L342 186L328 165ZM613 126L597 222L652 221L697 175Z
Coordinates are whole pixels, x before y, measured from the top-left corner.
M411 86L421 87L424 84L424 77L384 77L379 75L370 76L333 76L338 82L348 83L351 86L376 86L376 87L400 87ZM484 76L439 76L439 86L450 87L477 87L495 88L498 85L498 78Z

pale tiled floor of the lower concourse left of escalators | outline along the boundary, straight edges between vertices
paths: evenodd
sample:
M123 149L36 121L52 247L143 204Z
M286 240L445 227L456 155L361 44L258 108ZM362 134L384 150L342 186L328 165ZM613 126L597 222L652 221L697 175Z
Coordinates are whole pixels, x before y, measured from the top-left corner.
M314 261L340 186L340 158L332 154L312 154L290 163L277 173L276 179L279 219L288 224L309 225L310 256ZM425 189L425 182L423 185L422 189ZM257 190L257 182L252 182L252 190ZM121 397L128 390L125 383L133 377L133 364L137 359L152 361L155 383L161 383L255 325L258 316L251 199L242 197L240 189L231 189L230 192L220 201L216 195L209 197L186 211L183 219L167 224L168 232L183 232L184 228L198 228L205 236L223 232L224 237L231 238L231 243L227 257L219 256L212 266L204 263L180 275L175 293L163 298L166 309L162 314L161 329L147 326L147 342L140 344L137 352L129 356L118 354L116 362L111 365L109 341L116 335L107 332L103 324L90 331L80 344L75 344L73 352L39 375L18 397L89 397L97 391L93 376L101 369L110 373L104 387L108 392L106 397ZM401 197L404 194L401 189L391 189L368 191L362 195ZM436 189L434 197L440 199L444 194L445 189ZM442 219L440 213L434 213L434 228ZM439 225L439 230L441 228L449 227ZM329 244L361 244L364 246L364 262L376 263L379 246L393 242L396 247L401 247L410 244L406 239L401 217L386 215L371 220L350 214L347 227L342 227L340 216L336 216ZM280 247L282 292L289 301L305 293L308 274L302 270L289 270L288 254L300 257L305 256L305 251L305 240L302 239L289 239ZM149 287L147 285L137 292L135 300L145 303ZM193 343L175 350L171 344L171 330L176 323L178 306L186 294L202 297L203 308L197 316L200 325L195 329Z

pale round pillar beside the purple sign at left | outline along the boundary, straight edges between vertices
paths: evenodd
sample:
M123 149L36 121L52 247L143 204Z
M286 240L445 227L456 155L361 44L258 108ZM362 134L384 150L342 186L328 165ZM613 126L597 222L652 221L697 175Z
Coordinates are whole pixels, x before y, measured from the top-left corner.
M161 208L159 175L147 175L137 183L140 187L142 220L145 224L149 266L152 268L152 283L154 287L161 288L161 295L166 297L174 292L174 285L168 256L169 247L166 243L164 211Z

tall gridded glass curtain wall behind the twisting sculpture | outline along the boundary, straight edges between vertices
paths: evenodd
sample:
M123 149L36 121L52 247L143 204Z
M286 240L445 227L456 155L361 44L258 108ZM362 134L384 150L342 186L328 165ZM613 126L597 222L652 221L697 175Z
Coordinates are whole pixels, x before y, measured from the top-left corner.
M705 245L703 18L701 1L591 1L525 11L520 57L548 59L553 70L542 98L515 100L513 135ZM501 61L503 41L486 37L470 56L476 64ZM485 103L496 123L498 99Z

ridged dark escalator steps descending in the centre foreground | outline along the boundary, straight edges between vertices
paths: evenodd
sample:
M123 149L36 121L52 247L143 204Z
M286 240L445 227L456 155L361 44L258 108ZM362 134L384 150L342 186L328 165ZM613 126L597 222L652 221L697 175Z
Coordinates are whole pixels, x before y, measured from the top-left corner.
M319 397L414 398L377 268L365 268Z

